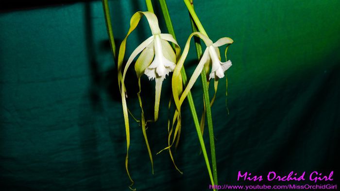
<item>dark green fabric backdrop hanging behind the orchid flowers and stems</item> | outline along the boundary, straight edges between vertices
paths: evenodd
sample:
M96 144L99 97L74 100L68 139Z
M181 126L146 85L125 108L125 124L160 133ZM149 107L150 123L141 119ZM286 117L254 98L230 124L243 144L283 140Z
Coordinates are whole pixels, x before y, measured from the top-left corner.
M191 31L188 13L181 0L168 1L183 48ZM146 6L142 0L111 0L110 7L120 42L130 17ZM230 113L224 79L212 108L220 184L246 184L237 181L238 171L334 171L332 183L339 182L339 7L339 0L195 0L212 40L235 41L228 51ZM126 55L150 35L145 20L141 24ZM195 57L192 49L188 74ZM129 190L115 67L101 1L0 13L1 190ZM130 76L128 104L139 116L133 71ZM206 191L209 178L187 103L174 154L184 174L174 169L167 152L155 155L167 145L169 79L160 120L147 130L155 174L133 122L130 173L139 191ZM150 111L153 82L144 76L142 83ZM193 92L201 113L200 80Z

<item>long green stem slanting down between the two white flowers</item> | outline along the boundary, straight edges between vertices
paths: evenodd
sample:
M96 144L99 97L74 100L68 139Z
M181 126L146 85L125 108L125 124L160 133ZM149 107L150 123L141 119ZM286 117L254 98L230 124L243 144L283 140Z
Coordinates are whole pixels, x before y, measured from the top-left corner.
M161 9L162 9L162 12L163 12L163 15L164 15L164 19L165 19L165 23L167 25L168 31L176 39L176 36L175 36L174 30L173 30L173 26L172 26L172 23L171 23L171 19L170 19L170 15L169 15L169 11L168 11L168 7L167 7L167 4L166 4L166 1L165 0L159 0L159 2L160 2L160 5L161 5ZM201 54L202 54L202 50L201 50ZM182 75L183 84L186 85L187 84L187 74L186 74L186 71L185 71L184 67L181 69L181 75ZM207 89L207 83L206 83L206 79L205 79L205 70L204 70L204 80L205 81L204 81L203 84L205 84L205 88ZM204 95L206 95L206 94L204 94ZM212 174L211 174L209 159L208 159L208 156L206 154L206 149L205 149L205 145L204 145L204 139L203 139L202 132L201 132L201 129L200 129L200 122L198 121L197 112L196 112L196 109L195 109L195 104L194 104L191 92L189 92L187 94L187 100L188 100L188 103L189 103L189 106L190 106L190 110L191 110L192 118L194 120L194 124L195 124L195 127L196 127L197 135L198 135L198 138L199 138L199 141L200 141L200 144L201 144L202 153L204 155L204 159L205 159L205 163L206 163L206 166L207 166L207 170L208 170L211 182L212 182L212 184L214 184L215 181L214 181L214 179L212 177ZM208 100L207 103L210 103L209 95L207 96L207 100ZM209 111L210 111L210 107L209 107ZM208 116L209 115L207 114L207 117ZM211 119L211 112L210 112L210 119ZM210 120L210 122L212 124L212 120ZM213 151L214 151L214 156L215 156L215 146L213 148L214 148ZM216 167L216 159L215 159L215 167ZM216 175L216 178L217 178L217 175ZM216 185L216 184L217 184L217 181L216 181L216 183L214 185ZM215 189L214 189L214 191L215 191Z

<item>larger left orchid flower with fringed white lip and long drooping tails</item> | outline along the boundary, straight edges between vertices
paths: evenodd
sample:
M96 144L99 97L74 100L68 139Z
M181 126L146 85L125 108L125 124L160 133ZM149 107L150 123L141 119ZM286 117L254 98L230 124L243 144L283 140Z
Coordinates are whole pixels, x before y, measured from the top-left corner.
M143 16L145 16L148 20L148 23L149 23L149 26L152 32L152 36L150 36L145 41L143 41L132 52L132 54L130 55L125 65L123 73L121 73L127 37L131 34L132 31L136 29L139 23L139 20ZM175 44L175 52L171 48L168 41ZM160 28L158 26L157 17L152 12L136 12L131 17L130 29L126 37L123 39L123 41L120 44L119 56L118 56L118 84L119 84L119 89L121 93L124 123L125 123L125 132L126 132L126 144L127 144L125 168L126 168L126 172L132 184L134 183L134 181L132 180L129 170L128 170L128 156L129 156L129 146L130 146L130 125L129 125L128 108L126 104L127 94L126 94L124 80L126 77L127 69L130 67L131 63L133 62L133 60L136 58L136 56L139 53L140 53L140 56L136 60L136 64L135 64L135 70L136 70L136 74L138 78L138 86L139 86L139 92L137 93L137 96L138 96L138 101L139 101L140 108L141 108L142 132L143 132L143 136L146 142L146 146L148 148L149 157L150 157L150 161L152 165L152 171L153 171L153 157L152 157L151 149L150 149L149 142L148 142L147 135L146 135L146 120L144 117L144 111L143 111L142 102L140 98L140 92L141 92L140 78L143 74L145 74L148 76L149 80L153 80L153 79L155 80L155 103L154 103L154 120L153 121L157 121L162 83L164 79L166 78L166 76L169 75L169 73L173 71L173 69L175 68L176 66L175 63L180 53L180 48L172 35L161 33Z

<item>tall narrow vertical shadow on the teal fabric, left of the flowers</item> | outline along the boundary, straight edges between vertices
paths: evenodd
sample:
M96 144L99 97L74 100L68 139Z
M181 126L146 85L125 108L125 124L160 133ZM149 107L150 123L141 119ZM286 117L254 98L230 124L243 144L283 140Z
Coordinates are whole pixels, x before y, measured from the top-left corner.
M96 129L96 113L102 111L102 103L100 97L100 80L101 76L98 69L96 55L94 54L94 42L92 31L91 5L89 2L85 3L85 42L87 47L87 55L89 60L89 68L91 72L91 82L89 87L89 95L83 98L82 105L80 105L79 114L79 132L82 149L82 163L84 165L84 186L89 191L102 190L100 175L101 174L101 160L98 151L98 135ZM87 99L89 98L89 102ZM90 107L89 107L90 106ZM92 107L92 108L91 108ZM86 109L87 108L87 109ZM91 108L91 110L89 110Z

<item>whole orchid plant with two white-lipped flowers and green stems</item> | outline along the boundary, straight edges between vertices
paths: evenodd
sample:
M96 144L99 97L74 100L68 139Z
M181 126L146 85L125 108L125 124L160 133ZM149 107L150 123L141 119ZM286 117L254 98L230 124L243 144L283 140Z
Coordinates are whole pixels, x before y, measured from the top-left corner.
M137 92L137 97L141 109L141 120L140 122L142 126L142 132L145 139L145 143L148 149L151 166L152 166L152 172L153 172L153 155L150 149L149 141L146 134L146 126L147 122L156 122L158 120L158 111L159 111L159 104L160 104L160 96L161 96L161 90L162 90L162 83L166 79L167 76L170 75L170 72L173 72L171 77L171 83L172 83L172 96L173 101L175 103L176 109L173 114L172 122L168 122L168 146L164 148L164 150L168 150L171 160L175 166L175 168L182 173L177 166L175 165L172 153L171 153L171 147L176 141L176 147L178 145L178 140L180 137L181 132L181 106L185 99L188 100L190 110L192 113L193 121L195 124L195 128L197 131L197 135L200 141L201 150L204 156L204 160L206 163L207 171L210 177L210 181L212 185L217 185L217 166L216 166L216 157L215 157L215 144L214 144L214 135L213 135L213 127L212 127L212 116L211 116L211 106L216 98L216 92L218 87L218 80L224 77L224 72L229 69L232 64L230 60L227 60L226 54L227 50L230 44L233 43L233 40L229 37L222 37L219 40L217 40L215 43L209 37L204 31L204 28L202 24L200 23L194 9L193 9L193 2L192 0L184 0L185 4L187 5L187 9L190 13L192 27L193 27L193 33L191 33L187 39L187 43L183 49L182 54L180 54L181 49L178 45L174 30L172 27L169 11L167 8L167 4L165 0L159 0L160 6L164 15L164 19L168 28L168 31L170 34L164 34L161 33L161 30L158 25L158 19L156 15L153 13L153 6L151 3L151 0L146 0L146 4L148 7L148 11L138 11L136 12L130 20L130 28L125 36L125 38L122 40L120 47L119 47L119 53L118 53L118 84L119 84L119 91L121 94L121 101L122 101L122 108L123 108L123 116L124 116L124 123L125 123L125 131L126 131L126 145L127 145L127 153L125 157L125 168L126 172L128 174L128 177L130 178L132 184L134 184L134 181L129 173L128 170L128 157L129 157L129 146L130 146L130 124L129 124L129 114L136 120L136 118L132 115L132 113L129 111L127 107L127 97L128 93L126 91L125 87L125 78L127 75L127 70L135 60L135 58L138 56L135 62L135 71L136 76L138 79L138 87L139 91ZM106 27L108 31L108 35L111 42L111 48L114 57L116 58L116 46L114 43L114 36L112 32L112 26L111 26L111 19L110 19L110 12L108 8L108 0L102 0L103 3L103 9L104 9L104 15L105 15L105 21L106 21ZM149 27L151 30L152 35L144 40L139 46L136 47L136 49L131 53L126 63L123 63L123 59L125 56L125 49L126 49L126 43L128 36L136 29L138 26L138 23L140 19L145 16ZM198 31L197 31L198 29ZM187 74L184 69L184 63L187 58L187 54L190 48L190 40L192 37L198 37L202 39L204 42L206 48L202 55L202 49L201 44L196 42L196 51L199 58L198 65L196 69L194 70L193 74L191 75L190 79L187 82ZM171 44L170 44L171 43ZM221 54L219 47L227 45L225 49L225 62L221 61ZM125 64L125 65L124 65ZM123 69L124 65L124 69ZM210 69L211 68L211 69ZM208 94L208 85L209 81L206 81L206 70L210 70L210 73L208 75L209 81L211 79L214 79L214 88L215 88L215 94L213 99L210 101L209 94ZM144 110L142 106L142 99L140 97L141 92L141 77L145 74L149 80L155 80L155 99L154 99L154 111L153 111L153 120L145 120ZM202 84L203 84L203 91L204 91L204 112L202 115L201 123L198 121L196 108L190 93L190 90L196 80L198 79L199 75L201 74L202 78ZM212 162L212 168L213 171L211 171L210 161L207 156L207 152L205 149L205 143L203 140L203 129L204 129L204 119L205 114L207 117L207 123L208 123L208 129L209 129L209 143L210 143L210 151L211 151L211 162ZM137 121L137 120L136 120ZM172 135L173 134L173 135ZM172 138L172 139L171 139ZM160 151L161 152L161 151ZM160 153L158 152L158 153Z

